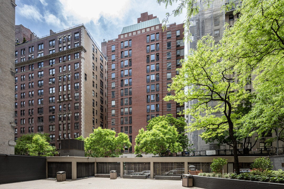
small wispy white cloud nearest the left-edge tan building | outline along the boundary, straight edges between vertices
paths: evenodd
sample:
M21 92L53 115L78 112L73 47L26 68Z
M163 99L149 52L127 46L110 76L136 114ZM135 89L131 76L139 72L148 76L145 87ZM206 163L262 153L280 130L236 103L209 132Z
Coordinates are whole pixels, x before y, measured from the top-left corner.
M42 21L42 15L39 13L39 10L32 5L24 5L23 7L18 7L17 12L27 19Z

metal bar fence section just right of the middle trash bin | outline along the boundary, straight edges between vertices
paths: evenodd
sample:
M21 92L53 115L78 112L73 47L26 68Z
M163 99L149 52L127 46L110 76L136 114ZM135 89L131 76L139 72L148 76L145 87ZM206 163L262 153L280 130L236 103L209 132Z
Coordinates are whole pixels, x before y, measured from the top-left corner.
M124 162L124 175L147 175L150 178L150 162Z

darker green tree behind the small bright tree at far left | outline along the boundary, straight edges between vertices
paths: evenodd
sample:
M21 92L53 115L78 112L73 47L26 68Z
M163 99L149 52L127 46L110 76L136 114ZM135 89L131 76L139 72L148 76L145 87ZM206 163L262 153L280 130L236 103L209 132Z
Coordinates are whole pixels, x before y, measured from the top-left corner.
M32 139L36 135L36 133L26 134L22 135L16 140L16 146L15 146L15 154L17 155L28 155L28 147L27 144L32 143ZM49 134L48 133L37 133L37 135L40 135L41 137L45 138L45 141L49 142Z

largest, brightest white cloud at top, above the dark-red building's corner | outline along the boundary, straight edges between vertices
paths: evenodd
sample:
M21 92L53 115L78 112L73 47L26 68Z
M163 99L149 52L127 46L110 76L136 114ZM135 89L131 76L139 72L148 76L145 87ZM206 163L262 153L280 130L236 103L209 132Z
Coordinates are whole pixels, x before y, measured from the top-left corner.
M62 3L62 15L72 24L97 24L100 16L105 18L123 18L130 9L130 0L87 1L59 0Z

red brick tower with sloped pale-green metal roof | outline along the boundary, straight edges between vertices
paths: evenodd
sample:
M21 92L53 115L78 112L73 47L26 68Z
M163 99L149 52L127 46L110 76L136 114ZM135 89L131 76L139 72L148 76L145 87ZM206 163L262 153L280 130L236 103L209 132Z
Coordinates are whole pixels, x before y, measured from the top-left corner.
M183 24L162 24L153 14L142 13L137 24L126 26L118 38L102 43L108 57L108 128L129 135L134 151L139 129L155 116L182 111L163 97L179 60L184 57Z

